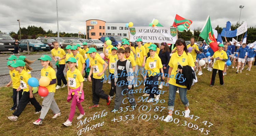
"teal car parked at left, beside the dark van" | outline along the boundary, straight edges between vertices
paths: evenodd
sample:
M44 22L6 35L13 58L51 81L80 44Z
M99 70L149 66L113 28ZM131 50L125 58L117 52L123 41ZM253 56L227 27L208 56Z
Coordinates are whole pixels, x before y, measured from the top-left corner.
M40 42L39 40L25 39L20 41L19 52L22 52L23 50L28 50L27 44L29 47L29 51L32 51L32 52L36 50L49 51L49 46L47 44Z

